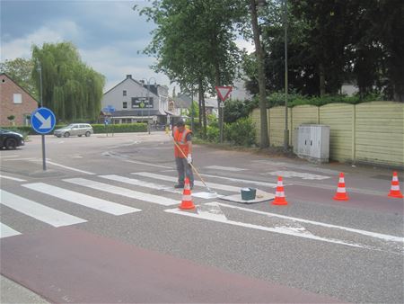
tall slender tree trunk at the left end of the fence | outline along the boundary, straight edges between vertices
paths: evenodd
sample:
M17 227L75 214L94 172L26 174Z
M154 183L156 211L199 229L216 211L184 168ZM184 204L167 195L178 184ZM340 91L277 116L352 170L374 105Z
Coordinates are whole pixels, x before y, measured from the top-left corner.
M252 31L254 34L255 55L257 58L258 77L259 77L259 113L261 121L260 130L260 148L267 148L269 146L268 139L268 120L267 120L267 93L266 93L266 79L264 67L264 51L259 40L259 25L257 17L257 7L255 0L250 0L251 8L251 23Z

